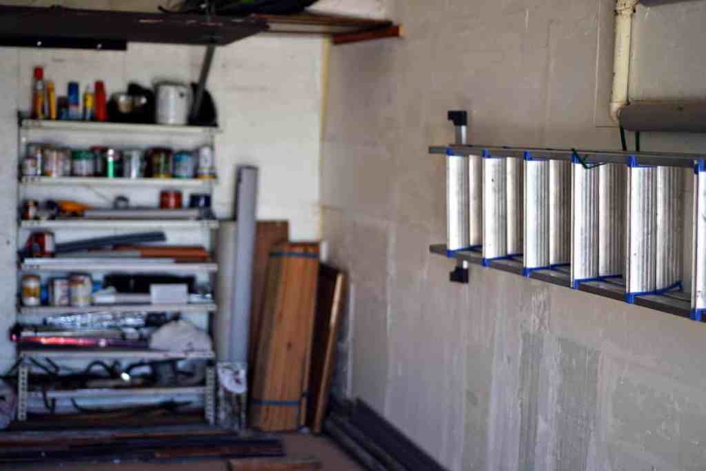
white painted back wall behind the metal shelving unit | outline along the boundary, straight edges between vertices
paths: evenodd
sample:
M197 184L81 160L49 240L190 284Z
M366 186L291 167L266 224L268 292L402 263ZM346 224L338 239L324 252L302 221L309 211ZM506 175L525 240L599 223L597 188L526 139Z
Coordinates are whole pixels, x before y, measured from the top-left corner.
M263 35L217 49L208 90L224 131L215 148L218 217L232 217L237 165L255 165L260 169L258 218L289 220L292 239L320 237L323 44L319 37ZM196 81L202 57L203 47L152 44L129 44L126 52L0 48L0 145L5 162L0 169L0 270L8 273L0 286L5 313L0 332L6 333L16 317L16 112L29 108L33 66L44 66L58 94L65 93L69 80L85 85L97 79L104 80L112 93L124 90L128 81L143 85L159 78ZM124 145L129 143L128 136ZM144 192L130 196L133 201L153 198ZM5 334L1 339L0 371L4 371L14 348Z

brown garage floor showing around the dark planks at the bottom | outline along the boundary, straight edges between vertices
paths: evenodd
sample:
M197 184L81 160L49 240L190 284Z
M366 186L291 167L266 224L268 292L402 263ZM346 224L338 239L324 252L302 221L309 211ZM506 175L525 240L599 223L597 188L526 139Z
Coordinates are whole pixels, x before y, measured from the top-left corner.
M363 471L338 446L325 437L304 434L282 435L288 455L316 456L325 471ZM4 469L16 470L61 470L61 471L227 471L224 461L190 461L189 463L119 463L71 464L71 465L22 465Z

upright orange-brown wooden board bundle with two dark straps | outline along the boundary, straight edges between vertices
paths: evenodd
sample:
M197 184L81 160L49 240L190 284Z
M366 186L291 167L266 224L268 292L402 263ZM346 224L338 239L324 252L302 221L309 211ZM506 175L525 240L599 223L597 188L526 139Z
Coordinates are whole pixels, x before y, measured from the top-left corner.
M304 424L318 266L318 243L277 244L270 252L251 388L254 429Z

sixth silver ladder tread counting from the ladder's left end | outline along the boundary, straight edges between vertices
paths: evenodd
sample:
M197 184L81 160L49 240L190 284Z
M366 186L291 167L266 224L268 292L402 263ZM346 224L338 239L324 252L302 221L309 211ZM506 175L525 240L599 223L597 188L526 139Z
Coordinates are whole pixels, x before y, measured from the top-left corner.
M527 216L525 216L527 217ZM571 259L571 164L549 161L549 265Z

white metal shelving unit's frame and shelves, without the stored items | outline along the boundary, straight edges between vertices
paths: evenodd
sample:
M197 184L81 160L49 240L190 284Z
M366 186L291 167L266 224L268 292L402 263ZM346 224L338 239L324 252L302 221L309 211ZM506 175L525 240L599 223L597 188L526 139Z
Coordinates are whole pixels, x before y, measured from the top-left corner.
M24 155L25 144L28 142L43 142L44 139L55 142L57 134L66 135L66 143L85 143L92 141L95 136L96 143L100 142L101 136L112 136L114 141L121 139L121 134L126 136L128 143L129 136L142 142L150 139L150 135L168 138L169 142L179 138L186 139L185 142L210 144L215 148L215 136L222 131L217 128L202 126L162 126L152 124L116 124L116 123L95 123L85 121L36 121L31 119L20 119L19 126L19 151L20 157ZM75 137L71 137L75 135ZM46 136L46 137L44 137ZM180 142L180 141L179 141ZM104 177L22 177L18 185L20 201L23 196L32 198L36 195L47 197L47 190L58 189L59 187L83 189L127 189L136 191L138 189L158 191L161 188L184 189L186 191L201 191L213 193L217 185L215 179L153 179L153 178L104 178ZM92 192L84 191L89 199ZM94 196L93 198L96 198ZM88 201L86 201L89 203ZM104 204L102 200L96 201ZM217 229L216 220L27 220L18 222L18 233L31 230L50 231L108 231L130 230L141 231L145 229L162 229L164 231L191 231L198 235L199 239L205 238L203 245L207 248L212 246L213 237L207 231ZM189 236L191 238L191 236ZM182 237L182 239L184 239ZM82 272L99 275L100 273L121 272L121 273L170 273L170 274L193 274L202 282L210 280L213 283L213 273L217 272L217 263L172 263L160 259L116 259L107 258L102 260L81 258L55 258L47 263L33 263L31 258L25 259L18 266L20 272L30 272L36 274L51 273L71 273ZM46 278L46 277L44 277ZM82 314L88 312L111 312L116 314L128 314L134 312L180 312L181 314L196 314L194 322L201 324L203 319L198 314L211 314L217 311L214 303L203 304L116 304L97 305L86 307L71 306L18 306L18 321L31 323L41 322L46 316L54 314ZM210 325L208 317L206 325ZM179 397L181 395L203 395L205 419L210 423L215 423L215 391L216 375L213 362L215 353L213 351L192 351L192 352L166 352L157 350L116 350L116 349L68 349L68 348L18 348L20 365L18 367L18 420L27 418L28 398L35 398L40 392L30 391L30 369L32 362L37 360L56 360L68 362L90 362L95 359L103 360L144 360L144 361L167 361L199 359L208 362L206 366L205 385L191 388L131 388L131 389L77 389L77 390L49 390L47 398L50 399L71 399L71 398L120 398L130 397L152 397L155 395L166 395L169 397Z

